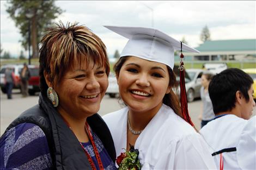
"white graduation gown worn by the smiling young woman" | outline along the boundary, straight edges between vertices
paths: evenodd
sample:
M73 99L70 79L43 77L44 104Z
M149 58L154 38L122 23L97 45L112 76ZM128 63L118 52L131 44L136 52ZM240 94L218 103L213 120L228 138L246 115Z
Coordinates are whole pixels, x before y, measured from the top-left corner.
M123 108L103 116L117 156L126 148L127 112ZM164 104L137 138L135 149L142 169L216 169L202 136Z

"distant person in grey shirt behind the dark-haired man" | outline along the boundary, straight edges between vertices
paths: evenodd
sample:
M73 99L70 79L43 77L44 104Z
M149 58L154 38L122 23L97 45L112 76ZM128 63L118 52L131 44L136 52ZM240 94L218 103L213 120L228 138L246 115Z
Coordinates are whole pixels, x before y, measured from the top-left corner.
M202 112L199 116L201 128L214 118L214 110L212 110L212 103L208 92L209 83L213 76L214 74L210 72L204 72L201 77L202 87L200 89L200 96L202 99Z

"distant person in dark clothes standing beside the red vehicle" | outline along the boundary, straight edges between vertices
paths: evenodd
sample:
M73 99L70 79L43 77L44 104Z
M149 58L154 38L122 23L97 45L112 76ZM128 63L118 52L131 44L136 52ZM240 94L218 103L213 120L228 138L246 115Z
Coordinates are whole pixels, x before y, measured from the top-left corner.
M20 72L22 97L28 96L28 80L30 77L31 77L31 74L29 72L28 65L25 62Z

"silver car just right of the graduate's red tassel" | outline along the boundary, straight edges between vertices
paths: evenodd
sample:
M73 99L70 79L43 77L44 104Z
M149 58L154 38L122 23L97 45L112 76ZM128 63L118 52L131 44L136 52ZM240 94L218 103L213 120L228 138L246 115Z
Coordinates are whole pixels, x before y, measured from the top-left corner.
M200 98L201 77L204 70L202 69L186 69L185 70L185 86L187 93L187 102L193 102L195 98ZM179 83L179 69L178 66L174 66L174 73L176 74L176 80ZM178 88L178 94L180 94L180 88Z

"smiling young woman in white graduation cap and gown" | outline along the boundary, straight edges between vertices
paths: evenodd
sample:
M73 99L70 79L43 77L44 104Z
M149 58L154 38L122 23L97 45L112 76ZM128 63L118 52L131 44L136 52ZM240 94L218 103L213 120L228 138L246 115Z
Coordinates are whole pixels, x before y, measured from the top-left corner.
M129 39L114 66L126 107L103 117L117 155L134 146L142 169L215 169L208 146L182 118L173 92L174 47L180 42L150 28L107 28Z

